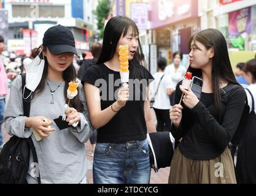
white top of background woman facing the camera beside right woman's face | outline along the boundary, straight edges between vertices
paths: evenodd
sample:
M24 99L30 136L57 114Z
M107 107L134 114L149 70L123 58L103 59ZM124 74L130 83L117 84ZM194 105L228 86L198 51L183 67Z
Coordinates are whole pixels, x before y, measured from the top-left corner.
M185 77L186 71L184 66L179 66L176 70L174 64L165 67L165 74L168 74L173 80L173 89L176 89L177 83Z

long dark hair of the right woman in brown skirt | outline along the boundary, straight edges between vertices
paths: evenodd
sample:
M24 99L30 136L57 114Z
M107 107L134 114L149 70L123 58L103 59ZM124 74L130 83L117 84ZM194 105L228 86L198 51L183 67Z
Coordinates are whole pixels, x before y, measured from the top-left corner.
M214 117L219 119L220 80L238 84L228 56L227 42L222 33L217 29L205 29L194 34L188 43L189 48L193 40L202 43L207 50L214 48L214 57L212 58L212 90L214 94ZM188 71L192 72L193 76L201 77L202 75L201 69L193 69L189 66Z

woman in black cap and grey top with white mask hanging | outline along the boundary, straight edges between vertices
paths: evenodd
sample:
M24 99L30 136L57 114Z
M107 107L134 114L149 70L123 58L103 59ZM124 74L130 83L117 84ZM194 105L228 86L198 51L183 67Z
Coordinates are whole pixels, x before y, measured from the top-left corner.
M45 32L39 50L42 51L40 58L35 58L26 72L26 88L32 92L30 117L23 116L24 95L21 92L21 77L18 77L10 90L6 130L10 135L21 138L32 134L42 183L85 183L87 164L84 142L90 137L92 129L81 84L69 108L64 108L68 103L69 82L76 79L76 70L72 65L74 54L77 55L74 36L64 26L53 26ZM64 113L68 125L60 130L53 119ZM76 127L71 126L76 122L79 122ZM36 140L35 135L42 140ZM26 179L28 183L37 183L34 167L31 167L32 160Z

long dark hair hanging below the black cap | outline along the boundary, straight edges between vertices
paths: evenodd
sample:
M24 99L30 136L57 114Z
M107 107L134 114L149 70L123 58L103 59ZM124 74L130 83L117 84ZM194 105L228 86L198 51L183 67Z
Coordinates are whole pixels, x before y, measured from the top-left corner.
M46 50L46 46L45 45L41 45L38 49L37 49L37 55L39 55L40 51L42 50L45 51ZM46 56L43 57L43 53L40 53L39 57L41 59L44 58L45 63L44 63L44 71L42 74L42 78L41 81L39 83L39 85L37 86L36 90L33 92L32 97L34 97L36 94L39 94L46 85L46 80L47 80L47 72L48 72L48 61ZM71 64L66 70L64 70L63 72L63 80L65 81L65 87L64 87L64 97L66 97L66 103L68 103L68 97L67 97L67 90L68 90L68 83L70 81L76 80L77 74L76 74L76 69L74 67L73 64ZM79 88L77 88L78 91L78 95L79 95ZM64 107L64 105L63 105ZM75 108L77 111L79 111L82 108L82 104L79 100L79 96L75 96L73 99L71 99L69 107L73 107Z

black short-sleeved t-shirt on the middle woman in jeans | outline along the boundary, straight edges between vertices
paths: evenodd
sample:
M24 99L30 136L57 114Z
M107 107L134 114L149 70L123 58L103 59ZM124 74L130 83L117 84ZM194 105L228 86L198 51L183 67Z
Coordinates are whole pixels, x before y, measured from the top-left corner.
M98 129L97 142L114 143L132 140L144 140L147 134L147 127L144 116L145 89L153 80L152 75L143 66L138 66L138 72L142 73L139 78L144 85L139 85L136 80L133 83L133 70L129 66L129 100L125 107L105 126ZM82 83L87 82L99 88L101 96L101 110L113 104L118 96L118 89L122 87L120 73L109 69L105 64L97 64L89 67L82 78Z

